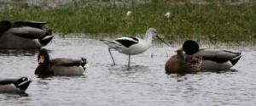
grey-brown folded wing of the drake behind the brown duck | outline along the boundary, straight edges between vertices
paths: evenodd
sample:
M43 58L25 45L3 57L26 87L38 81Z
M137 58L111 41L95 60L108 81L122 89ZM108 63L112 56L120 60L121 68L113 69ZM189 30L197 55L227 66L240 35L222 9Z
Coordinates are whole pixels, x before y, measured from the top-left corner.
M233 53L225 50L201 50L195 55L202 56L203 60L212 60L218 63L224 63L231 59L236 58L236 56L241 55L241 53Z

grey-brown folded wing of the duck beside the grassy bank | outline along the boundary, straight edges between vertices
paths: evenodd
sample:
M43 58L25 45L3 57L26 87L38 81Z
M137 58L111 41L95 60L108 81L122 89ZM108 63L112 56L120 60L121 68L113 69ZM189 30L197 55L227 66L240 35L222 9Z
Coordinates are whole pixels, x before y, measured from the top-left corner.
M40 37L47 36L48 31L29 27L29 26L24 26L24 27L11 28L9 29L9 33L13 33L16 36L20 36L28 39L38 39Z

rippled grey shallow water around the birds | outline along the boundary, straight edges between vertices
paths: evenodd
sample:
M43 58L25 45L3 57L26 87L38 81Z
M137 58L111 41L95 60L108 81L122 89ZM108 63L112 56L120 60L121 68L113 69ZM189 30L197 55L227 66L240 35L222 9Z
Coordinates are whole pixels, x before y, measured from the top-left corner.
M88 106L184 106L256 104L255 47L221 47L242 51L236 71L194 75L166 75L166 52L174 47L154 46L147 52L128 57L113 52L117 65L112 66L108 48L96 39L55 37L47 47L52 58L86 57L90 67L82 76L38 78L37 50L1 51L2 78L28 76L32 79L26 94L0 94L0 104L88 105Z

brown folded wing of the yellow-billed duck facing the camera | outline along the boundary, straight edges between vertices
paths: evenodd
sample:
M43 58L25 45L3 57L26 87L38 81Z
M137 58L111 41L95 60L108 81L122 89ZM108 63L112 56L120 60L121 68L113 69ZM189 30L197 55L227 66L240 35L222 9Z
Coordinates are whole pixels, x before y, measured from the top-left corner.
M79 66L82 64L81 59L66 59L66 58L59 58L59 59L51 59L50 65L58 65L58 66Z

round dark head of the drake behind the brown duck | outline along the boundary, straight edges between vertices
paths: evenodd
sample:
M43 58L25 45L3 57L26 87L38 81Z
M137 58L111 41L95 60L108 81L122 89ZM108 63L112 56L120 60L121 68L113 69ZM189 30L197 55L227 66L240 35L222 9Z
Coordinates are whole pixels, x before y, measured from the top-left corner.
M193 40L187 40L183 43L183 51L186 54L194 54L199 52L199 45L197 42L193 41Z

